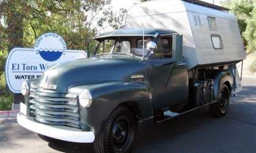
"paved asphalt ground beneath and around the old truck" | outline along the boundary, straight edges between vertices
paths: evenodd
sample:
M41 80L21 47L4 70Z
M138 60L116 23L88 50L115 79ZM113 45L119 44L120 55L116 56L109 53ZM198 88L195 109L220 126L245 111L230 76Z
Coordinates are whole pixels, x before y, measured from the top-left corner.
M243 84L243 92L232 98L226 117L214 118L205 108L141 128L133 152L256 152L256 79L244 78ZM93 152L93 146L47 143L15 120L2 120L0 152Z

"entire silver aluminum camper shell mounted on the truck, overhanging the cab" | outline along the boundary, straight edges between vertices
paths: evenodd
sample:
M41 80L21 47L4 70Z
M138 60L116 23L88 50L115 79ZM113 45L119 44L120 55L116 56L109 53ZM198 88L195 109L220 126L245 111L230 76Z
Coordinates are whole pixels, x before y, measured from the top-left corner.
M238 22L221 8L181 0L148 1L128 10L124 27L174 30L183 35L188 69L236 63L246 58Z

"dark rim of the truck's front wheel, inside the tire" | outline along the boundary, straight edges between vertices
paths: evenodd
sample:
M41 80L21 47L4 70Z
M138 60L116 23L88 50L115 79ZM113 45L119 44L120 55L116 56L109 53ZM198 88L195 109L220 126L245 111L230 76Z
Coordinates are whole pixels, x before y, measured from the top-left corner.
M130 120L126 116L117 118L112 125L111 140L116 151L123 151L130 139Z

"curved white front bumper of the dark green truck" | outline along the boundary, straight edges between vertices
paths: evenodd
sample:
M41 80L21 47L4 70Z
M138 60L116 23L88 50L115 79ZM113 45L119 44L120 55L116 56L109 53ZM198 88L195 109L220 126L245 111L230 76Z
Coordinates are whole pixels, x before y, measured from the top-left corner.
M63 141L70 141L76 143L92 143L94 141L93 132L70 131L66 129L59 129L56 127L48 126L46 124L37 123L26 118L21 112L17 116L18 123L36 132L37 134L45 135L47 137L56 138Z

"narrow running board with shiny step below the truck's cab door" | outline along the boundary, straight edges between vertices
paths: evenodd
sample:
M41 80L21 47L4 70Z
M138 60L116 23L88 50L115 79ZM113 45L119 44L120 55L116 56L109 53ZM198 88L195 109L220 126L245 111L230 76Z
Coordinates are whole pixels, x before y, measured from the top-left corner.
M201 109L202 107L209 106L210 104L213 104L213 103L216 103L216 102L217 102L217 100L212 101L211 103L208 103L208 104L204 104L204 105L199 106L199 107L195 107L193 109L187 110L187 111L182 112L182 113L171 112L171 110L166 110L165 112L163 112L163 115L165 115L165 117L167 117L167 118L165 118L163 120L160 120L160 121L156 121L156 123L164 123L166 121L171 120L172 118L176 118L176 117L179 117L180 115L187 114L188 112L192 112L194 110Z

